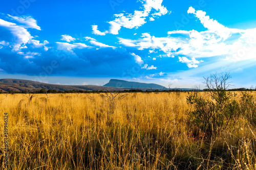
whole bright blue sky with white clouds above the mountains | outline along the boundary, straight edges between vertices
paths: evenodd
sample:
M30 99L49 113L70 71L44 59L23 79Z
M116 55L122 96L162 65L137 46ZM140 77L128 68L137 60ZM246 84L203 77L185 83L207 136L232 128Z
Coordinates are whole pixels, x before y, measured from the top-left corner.
M2 1L0 78L256 86L255 1Z

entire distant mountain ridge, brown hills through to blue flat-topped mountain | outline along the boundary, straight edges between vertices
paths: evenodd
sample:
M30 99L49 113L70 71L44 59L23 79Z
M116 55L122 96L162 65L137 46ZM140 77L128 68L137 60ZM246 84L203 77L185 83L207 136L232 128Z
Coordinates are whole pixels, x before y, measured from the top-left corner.
M82 90L82 91L106 91L106 90L168 90L164 86L158 84L148 84L139 82L129 82L124 80L111 79L109 83L104 86L96 85L58 85L58 84L48 84L41 83L31 80L21 80L21 79L0 79L0 90L6 91L39 91L41 89L46 90L57 90L57 91L72 91L72 90ZM191 90L186 88L180 88L180 90Z

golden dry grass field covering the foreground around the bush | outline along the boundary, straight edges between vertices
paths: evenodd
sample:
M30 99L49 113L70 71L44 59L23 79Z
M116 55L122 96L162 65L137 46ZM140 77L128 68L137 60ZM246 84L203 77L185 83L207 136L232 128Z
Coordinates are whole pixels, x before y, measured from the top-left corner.
M256 128L247 117L208 134L191 121L187 92L129 93L114 101L104 93L33 95L0 95L1 136L9 115L8 169L256 168Z

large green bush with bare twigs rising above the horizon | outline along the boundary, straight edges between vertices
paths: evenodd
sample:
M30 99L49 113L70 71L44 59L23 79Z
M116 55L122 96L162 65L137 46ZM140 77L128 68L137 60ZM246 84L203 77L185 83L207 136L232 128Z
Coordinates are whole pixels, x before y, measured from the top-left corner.
M230 85L227 82L230 78L227 73L220 76L210 75L204 78L209 98L203 98L198 92L189 93L187 96L187 103L194 106L194 110L189 112L189 119L210 135L240 114L239 103L232 93L226 90Z

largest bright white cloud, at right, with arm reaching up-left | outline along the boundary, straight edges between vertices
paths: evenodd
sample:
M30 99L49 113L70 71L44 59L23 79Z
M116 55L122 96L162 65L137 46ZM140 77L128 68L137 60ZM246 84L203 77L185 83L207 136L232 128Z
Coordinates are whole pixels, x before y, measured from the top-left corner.
M167 37L143 33L138 39L118 38L118 42L138 50L149 49L148 53L160 50L165 53L161 57L182 55L191 58L191 62L187 58L180 59L181 62L186 61L189 67L198 66L196 58L223 56L225 60L236 61L255 58L256 29L229 29L217 20L210 19L205 12L196 11L192 7L188 9L188 13L194 14L207 30L169 31Z

